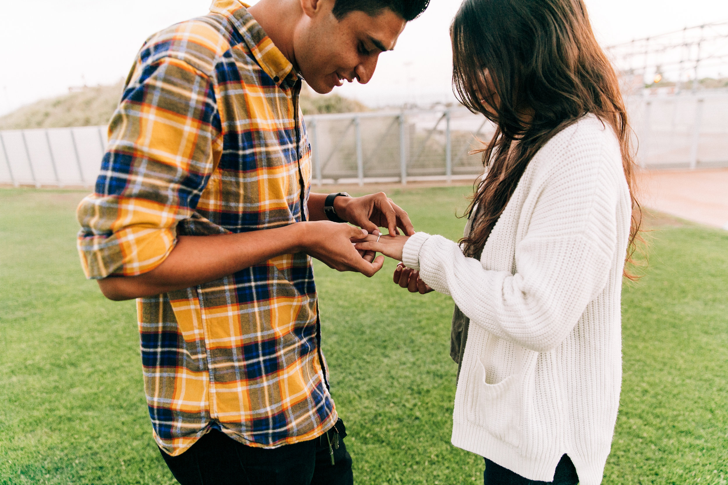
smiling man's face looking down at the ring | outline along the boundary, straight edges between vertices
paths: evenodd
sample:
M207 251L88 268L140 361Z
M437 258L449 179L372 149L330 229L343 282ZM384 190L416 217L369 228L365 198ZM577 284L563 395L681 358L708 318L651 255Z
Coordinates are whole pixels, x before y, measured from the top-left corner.
M293 37L296 63L306 83L321 94L344 80L368 83L379 55L395 47L407 22L390 9L375 17L355 10L338 20L331 13L334 0L315 3L317 8L304 15Z

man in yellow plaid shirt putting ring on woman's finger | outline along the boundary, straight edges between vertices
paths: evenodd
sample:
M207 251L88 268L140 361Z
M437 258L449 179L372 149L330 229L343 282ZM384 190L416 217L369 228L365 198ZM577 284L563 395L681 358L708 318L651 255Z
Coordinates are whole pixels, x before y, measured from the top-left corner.
M372 276L384 258L352 241L414 230L384 193L310 193L298 94L368 82L428 1L215 0L139 52L78 246L103 294L137 299L154 438L181 484L352 483L312 257Z

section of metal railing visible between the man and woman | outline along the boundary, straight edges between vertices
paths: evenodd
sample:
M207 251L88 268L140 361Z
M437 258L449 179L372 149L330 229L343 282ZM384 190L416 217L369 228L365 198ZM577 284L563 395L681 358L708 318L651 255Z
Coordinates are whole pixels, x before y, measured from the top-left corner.
M469 152L494 132L482 116L463 108L304 119L317 185L473 179L483 165Z

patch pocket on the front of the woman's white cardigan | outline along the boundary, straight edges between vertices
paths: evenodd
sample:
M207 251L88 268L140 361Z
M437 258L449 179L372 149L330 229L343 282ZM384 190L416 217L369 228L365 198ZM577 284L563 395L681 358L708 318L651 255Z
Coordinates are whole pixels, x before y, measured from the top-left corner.
M496 384L486 382L486 368L476 361L471 419L495 438L518 446L521 442L521 376L510 374Z

